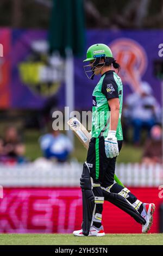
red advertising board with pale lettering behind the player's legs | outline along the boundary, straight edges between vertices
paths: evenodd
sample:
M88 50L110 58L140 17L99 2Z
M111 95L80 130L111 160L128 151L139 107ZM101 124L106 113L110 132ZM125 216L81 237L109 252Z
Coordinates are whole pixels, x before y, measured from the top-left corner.
M151 233L159 232L158 188L129 188L142 202L155 203ZM161 195L161 193L160 193ZM150 198L150 202L149 202ZM105 233L141 233L126 212L104 202ZM82 223L80 188L4 188L0 199L0 233L72 233Z

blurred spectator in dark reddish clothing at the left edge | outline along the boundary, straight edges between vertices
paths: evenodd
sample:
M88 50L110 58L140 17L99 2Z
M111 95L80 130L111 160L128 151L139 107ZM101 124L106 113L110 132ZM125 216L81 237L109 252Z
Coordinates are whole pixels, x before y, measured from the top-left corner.
M14 126L9 126L0 141L1 162L24 162L25 146L21 142L18 131Z

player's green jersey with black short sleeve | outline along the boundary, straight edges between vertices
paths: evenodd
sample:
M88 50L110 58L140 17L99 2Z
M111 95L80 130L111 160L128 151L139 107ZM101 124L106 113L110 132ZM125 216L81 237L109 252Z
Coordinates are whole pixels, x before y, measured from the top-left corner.
M101 134L105 138L110 130L110 107L108 100L119 98L120 115L116 130L118 141L123 139L121 114L123 101L123 84L121 78L112 70L106 71L97 86L93 90L93 107L92 107L92 137L98 138Z

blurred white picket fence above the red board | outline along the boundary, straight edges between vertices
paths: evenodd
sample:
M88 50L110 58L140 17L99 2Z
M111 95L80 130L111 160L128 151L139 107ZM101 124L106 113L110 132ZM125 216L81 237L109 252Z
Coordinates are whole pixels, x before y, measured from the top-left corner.
M79 187L83 164L34 163L0 166L0 182L4 187ZM159 187L163 185L161 164L120 163L116 175L125 186Z

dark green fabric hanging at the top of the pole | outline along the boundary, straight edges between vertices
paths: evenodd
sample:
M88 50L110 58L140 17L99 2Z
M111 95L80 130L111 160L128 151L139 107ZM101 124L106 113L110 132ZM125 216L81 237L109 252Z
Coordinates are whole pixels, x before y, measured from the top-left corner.
M83 0L53 0L49 28L50 52L65 57L67 48L82 57L85 44Z

